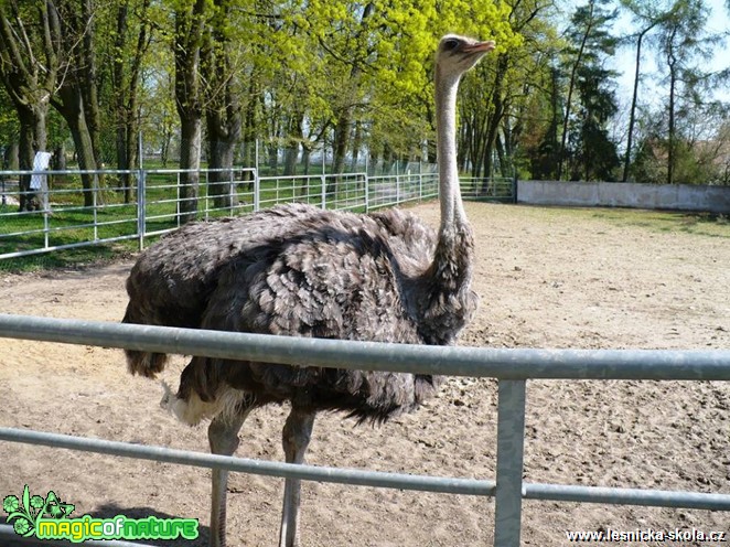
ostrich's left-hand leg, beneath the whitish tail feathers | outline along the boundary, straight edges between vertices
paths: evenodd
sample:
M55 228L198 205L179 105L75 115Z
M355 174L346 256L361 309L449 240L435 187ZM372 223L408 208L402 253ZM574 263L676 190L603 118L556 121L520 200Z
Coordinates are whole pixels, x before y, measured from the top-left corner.
M238 431L250 408L241 409L234 417L216 416L207 428L211 452L221 455L233 455L238 448ZM226 545L226 486L228 471L214 469L213 492L211 495L211 547Z

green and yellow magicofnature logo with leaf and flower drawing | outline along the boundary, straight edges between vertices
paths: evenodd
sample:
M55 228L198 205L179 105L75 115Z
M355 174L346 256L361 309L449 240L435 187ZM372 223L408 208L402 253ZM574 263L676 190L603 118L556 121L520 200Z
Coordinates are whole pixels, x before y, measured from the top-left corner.
M82 543L86 539L184 539L197 538L197 518L95 518L83 515L69 518L76 506L62 502L49 491L45 497L31 495L28 484L20 496L9 495L2 501L15 534L39 539L68 539Z

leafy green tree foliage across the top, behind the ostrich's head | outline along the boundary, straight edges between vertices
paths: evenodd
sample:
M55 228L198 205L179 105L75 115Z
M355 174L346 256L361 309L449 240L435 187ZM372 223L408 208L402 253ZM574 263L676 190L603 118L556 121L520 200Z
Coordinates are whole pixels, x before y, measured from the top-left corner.
M62 8L68 25L82 17L83 2L49 4ZM15 2L1 3L0 12L21 35L11 6ZM30 26L37 7L17 6L19 20L32 31L34 58L44 60L39 26ZM614 6L636 26L612 26ZM210 142L226 131L238 142L258 139L261 150L270 150L272 167L285 157L286 170L298 154L322 149L334 150L342 162L366 153L373 161L419 159L425 149L432 160L433 52L442 34L455 32L497 43L462 84L464 170L475 176L516 171L549 179L562 170L566 178L614 179L623 143L613 139L626 131L616 108L616 75L605 66L620 44L633 47L635 32L645 29L645 47L661 65L676 61L674 118L661 116L665 125L652 142L667 142L677 176L718 180L710 170L689 173L693 161L712 163L696 142L715 137L699 139L689 130L718 85L699 64L717 44L717 36L704 33L707 6L707 0L583 0L571 13L559 13L546 0L94 0L87 31L98 65L97 152L110 168L133 163L141 131L144 152L174 167L182 108L202 119L207 115L214 125L205 127L203 138ZM184 52L178 65L175 52ZM56 60L56 92L80 63L66 53ZM9 57L3 62L10 66ZM184 67L190 78L176 81ZM669 78L657 85L667 88ZM40 84L29 86L37 87L31 97L47 95ZM638 109L647 98L637 98ZM0 92L0 146L17 139L18 119ZM52 111L47 127L47 148L71 150L66 121ZM635 160L644 162L634 172L651 171L647 150L656 146L632 146ZM202 149L205 155L211 146ZM666 153L659 160L667 162ZM253 147L237 147L234 161L251 165Z

